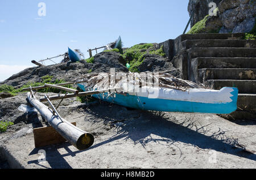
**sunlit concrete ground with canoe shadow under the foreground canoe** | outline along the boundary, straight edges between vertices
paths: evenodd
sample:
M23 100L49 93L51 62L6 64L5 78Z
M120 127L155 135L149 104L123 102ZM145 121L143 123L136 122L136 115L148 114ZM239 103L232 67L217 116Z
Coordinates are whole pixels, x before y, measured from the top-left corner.
M0 157L11 168L33 169L256 168L255 121L127 110L105 102L77 103L59 112L94 135L92 147L79 151L63 143L35 148L35 125L23 122L0 134Z

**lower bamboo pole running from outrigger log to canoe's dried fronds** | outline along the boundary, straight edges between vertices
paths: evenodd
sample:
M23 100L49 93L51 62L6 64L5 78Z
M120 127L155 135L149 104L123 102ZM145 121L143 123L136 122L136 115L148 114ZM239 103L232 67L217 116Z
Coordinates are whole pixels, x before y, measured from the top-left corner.
M82 96L90 96L90 95L98 95L100 93L106 93L106 92L113 92L113 91L121 91L123 88L113 88L113 89L103 89L100 91L88 91L88 92L80 92L77 95L75 94L68 94L68 95L57 95L57 96L51 96L49 97L49 100L61 100L63 98L72 98L72 97L82 97ZM40 98L40 102L47 101L47 98Z

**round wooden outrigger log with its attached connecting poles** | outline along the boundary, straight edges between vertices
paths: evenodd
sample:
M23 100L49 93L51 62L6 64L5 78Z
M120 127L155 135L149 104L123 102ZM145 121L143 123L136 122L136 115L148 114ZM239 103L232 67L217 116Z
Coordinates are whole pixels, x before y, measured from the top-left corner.
M40 87L24 88L23 91L30 91L27 93L28 101L32 106L34 106L34 108L36 108L39 111L42 117L47 120L49 125L51 125L57 132L59 132L59 134L65 140L67 140L77 149L84 150L89 148L93 144L94 142L93 135L88 132L80 130L80 128L77 128L67 120L63 119L56 109L59 107L60 103L63 101L64 98L97 95L99 93L107 93L107 92L116 92L116 91L121 91L123 88L103 89L98 91L89 91L89 92L79 93L79 91L76 89L61 87L61 85L75 84L75 83L79 83L79 82L63 83L63 84L55 84L55 85L44 84L43 86L40 86ZM57 96L51 96L51 97L45 95L44 98L40 98L40 101L39 101L34 96L34 92L32 90L42 89L46 87L57 88L63 91L71 92L71 93L69 94L65 93L65 95L59 94ZM61 101L57 106L57 108L55 108L51 100L61 100ZM48 108L46 105L42 103L43 101L48 101L51 107Z

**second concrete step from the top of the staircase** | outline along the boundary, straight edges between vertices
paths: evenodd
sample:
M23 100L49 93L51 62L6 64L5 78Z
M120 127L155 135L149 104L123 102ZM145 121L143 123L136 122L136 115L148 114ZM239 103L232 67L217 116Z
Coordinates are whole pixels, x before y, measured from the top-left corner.
M256 40L185 40L184 49L189 48L256 48Z

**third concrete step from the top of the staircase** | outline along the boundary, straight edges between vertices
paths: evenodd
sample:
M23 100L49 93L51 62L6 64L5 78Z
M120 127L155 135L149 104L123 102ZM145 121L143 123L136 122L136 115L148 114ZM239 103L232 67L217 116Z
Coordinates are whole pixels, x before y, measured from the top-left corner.
M256 57L256 48L190 48L190 58L198 57Z

